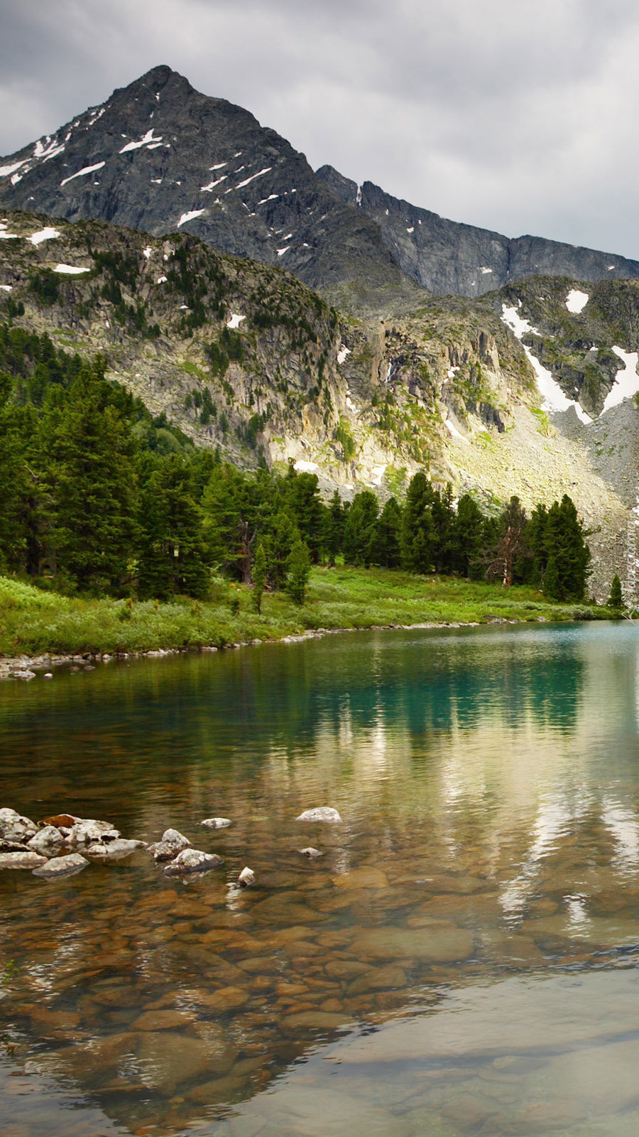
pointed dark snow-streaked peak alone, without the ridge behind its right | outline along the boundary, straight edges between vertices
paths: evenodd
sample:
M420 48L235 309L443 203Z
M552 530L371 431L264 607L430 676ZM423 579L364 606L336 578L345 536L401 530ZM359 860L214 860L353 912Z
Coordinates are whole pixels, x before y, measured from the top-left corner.
M403 282L375 223L320 182L304 155L168 67L2 159L0 202L153 235L184 230L313 287Z

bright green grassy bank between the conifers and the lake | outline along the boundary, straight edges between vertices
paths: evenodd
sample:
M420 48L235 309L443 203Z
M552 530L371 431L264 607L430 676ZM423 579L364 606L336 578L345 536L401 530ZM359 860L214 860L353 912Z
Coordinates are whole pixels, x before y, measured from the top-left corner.
M239 611L234 611L238 600ZM302 607L283 594L267 592L260 616L252 608L249 589L222 579L214 581L207 603L180 598L157 604L66 597L0 578L0 656L9 658L224 647L321 628L534 622L541 617L605 620L614 613L589 605L549 604L528 587L503 589L383 568L314 568Z

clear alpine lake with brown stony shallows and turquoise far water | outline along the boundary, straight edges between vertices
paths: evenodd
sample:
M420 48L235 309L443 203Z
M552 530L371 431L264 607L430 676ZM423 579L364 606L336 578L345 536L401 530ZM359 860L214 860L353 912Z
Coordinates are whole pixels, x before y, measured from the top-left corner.
M638 661L496 625L0 684L0 805L224 860L0 873L0 1137L636 1137Z

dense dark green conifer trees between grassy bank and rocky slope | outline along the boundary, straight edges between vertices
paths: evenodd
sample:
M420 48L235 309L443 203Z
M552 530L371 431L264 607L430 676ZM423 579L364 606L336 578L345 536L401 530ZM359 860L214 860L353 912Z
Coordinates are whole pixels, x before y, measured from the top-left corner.
M329 504L317 478L244 474L47 335L0 326L0 565L66 591L205 598L211 570L305 599L312 563L532 582L581 599L586 533L570 498L487 517L423 473L406 501Z

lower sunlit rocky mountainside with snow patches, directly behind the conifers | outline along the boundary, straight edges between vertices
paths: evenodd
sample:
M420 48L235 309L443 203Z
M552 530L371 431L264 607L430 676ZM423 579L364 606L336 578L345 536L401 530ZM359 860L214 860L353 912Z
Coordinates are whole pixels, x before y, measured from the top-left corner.
M108 377L197 445L243 467L292 459L325 492L401 496L418 468L489 509L567 492L596 530L597 594L623 568L639 282L529 277L357 318L182 231L14 211L0 222L2 322L103 354Z

